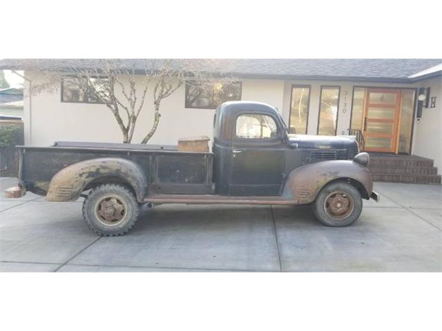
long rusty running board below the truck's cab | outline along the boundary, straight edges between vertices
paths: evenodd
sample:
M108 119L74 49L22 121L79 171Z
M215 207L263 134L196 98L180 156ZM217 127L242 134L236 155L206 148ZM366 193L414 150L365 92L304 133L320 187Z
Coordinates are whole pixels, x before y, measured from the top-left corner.
M211 194L152 194L148 195L146 203L188 203L195 205L204 204L229 204L229 205L296 205L295 200L282 197L224 197Z

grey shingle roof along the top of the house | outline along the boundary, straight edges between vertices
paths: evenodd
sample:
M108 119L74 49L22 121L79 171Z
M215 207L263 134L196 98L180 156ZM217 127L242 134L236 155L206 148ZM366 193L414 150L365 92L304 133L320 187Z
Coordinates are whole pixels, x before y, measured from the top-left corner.
M29 66L45 66L57 70L72 67L94 68L98 59L3 59L1 69L23 69L23 63ZM162 59L121 59L123 66L142 70L146 64L155 67ZM180 59L173 60L180 66ZM204 68L207 61L191 59L198 70L224 72L240 77L265 77L285 79L356 79L369 81L410 82L410 77L417 72L438 66L442 59L219 59L213 61L215 67ZM432 73L440 74L441 71Z

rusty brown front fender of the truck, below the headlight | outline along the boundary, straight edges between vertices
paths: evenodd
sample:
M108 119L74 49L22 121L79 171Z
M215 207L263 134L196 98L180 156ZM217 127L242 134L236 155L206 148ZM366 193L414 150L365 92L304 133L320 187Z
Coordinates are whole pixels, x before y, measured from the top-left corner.
M334 160L302 165L291 171L282 197L294 199L297 203L311 203L327 183L338 179L350 181L364 199L369 199L372 194L372 173L366 167L354 161Z

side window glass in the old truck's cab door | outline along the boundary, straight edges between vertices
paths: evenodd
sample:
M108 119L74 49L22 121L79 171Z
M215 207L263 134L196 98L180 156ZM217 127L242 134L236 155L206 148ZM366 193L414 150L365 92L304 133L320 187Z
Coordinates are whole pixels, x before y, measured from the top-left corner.
M266 115L244 114L236 120L236 137L243 139L273 139L278 129L275 121Z

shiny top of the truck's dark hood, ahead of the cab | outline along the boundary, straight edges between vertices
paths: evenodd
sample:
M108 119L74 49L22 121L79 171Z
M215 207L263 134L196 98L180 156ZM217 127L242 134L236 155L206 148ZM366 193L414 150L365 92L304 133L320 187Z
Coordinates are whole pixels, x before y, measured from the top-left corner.
M297 143L298 148L307 149L347 149L357 146L353 136L316 136L311 134L289 134L289 142Z

